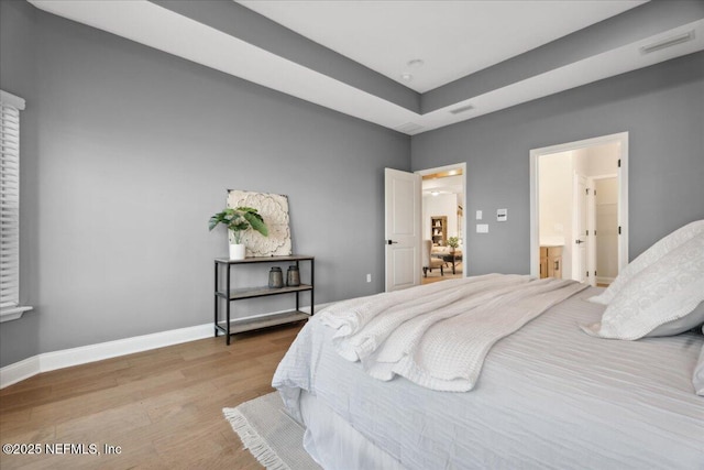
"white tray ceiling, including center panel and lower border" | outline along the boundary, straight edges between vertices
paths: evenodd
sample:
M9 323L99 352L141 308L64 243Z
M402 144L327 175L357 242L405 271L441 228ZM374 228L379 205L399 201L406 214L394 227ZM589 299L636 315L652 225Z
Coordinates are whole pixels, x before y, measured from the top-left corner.
M476 95L453 98L438 109L421 112L252 44L238 37L237 31L223 32L222 28L179 14L177 10L183 7L178 3L185 2L160 6L146 0L28 1L51 13L408 134L476 118L704 48L704 19L700 17L689 24L660 29L647 37L641 34L631 42L576 57ZM209 3L190 6L208 9ZM376 70L394 83L427 95L428 90L442 89L438 87L448 81L461 81L476 70L638 8L644 1L257 0L240 3L362 64L365 70ZM629 24L639 28L637 23ZM648 55L639 51L642 45L689 31L694 31L693 41ZM425 64L409 68L407 63L414 58L421 58ZM406 72L414 75L413 80L399 78L399 74ZM459 114L450 112L464 105L473 108Z

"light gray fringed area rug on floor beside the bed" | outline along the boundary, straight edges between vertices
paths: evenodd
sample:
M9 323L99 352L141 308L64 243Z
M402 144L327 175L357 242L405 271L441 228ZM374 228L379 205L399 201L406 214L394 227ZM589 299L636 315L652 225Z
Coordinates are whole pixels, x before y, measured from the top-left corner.
M288 416L278 392L222 413L244 448L270 470L321 469L302 446L304 428Z

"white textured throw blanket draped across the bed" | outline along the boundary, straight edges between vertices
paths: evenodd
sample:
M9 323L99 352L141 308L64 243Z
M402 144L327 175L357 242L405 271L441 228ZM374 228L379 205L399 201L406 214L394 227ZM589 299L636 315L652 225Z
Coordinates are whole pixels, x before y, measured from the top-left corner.
M431 390L466 392L496 341L585 287L488 274L353 299L319 315L338 330L338 352L361 360L373 378L403 375Z

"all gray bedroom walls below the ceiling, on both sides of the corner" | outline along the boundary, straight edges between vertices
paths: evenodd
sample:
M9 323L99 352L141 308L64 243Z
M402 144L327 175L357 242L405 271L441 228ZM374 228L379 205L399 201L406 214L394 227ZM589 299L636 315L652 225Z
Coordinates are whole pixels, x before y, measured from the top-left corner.
M28 100L21 269L35 307L0 325L0 367L210 321L227 242L207 219L227 188L289 196L320 303L383 289L385 166L466 162L472 229L476 209L509 209L488 236L468 230L471 274L529 272L530 149L630 132L631 258L704 218L702 53L411 140L25 1L0 9L0 87Z

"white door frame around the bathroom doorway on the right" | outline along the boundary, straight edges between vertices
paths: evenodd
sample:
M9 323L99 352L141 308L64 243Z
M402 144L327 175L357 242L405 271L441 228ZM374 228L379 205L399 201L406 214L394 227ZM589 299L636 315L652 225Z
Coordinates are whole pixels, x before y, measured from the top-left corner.
M628 264L628 132L602 135L575 142L532 149L530 151L530 275L540 276L540 209L538 175L540 156L552 153L568 152L608 143L619 144L620 167L618 168L618 270Z

